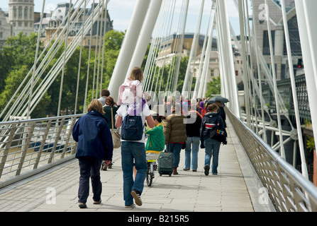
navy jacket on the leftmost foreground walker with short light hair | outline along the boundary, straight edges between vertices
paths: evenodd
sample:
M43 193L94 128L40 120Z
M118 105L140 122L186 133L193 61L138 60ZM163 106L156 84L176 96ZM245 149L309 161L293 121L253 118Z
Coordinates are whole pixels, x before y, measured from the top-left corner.
M80 117L72 129L74 141L78 142L76 157L93 156L112 160L113 143L106 119L96 111Z

